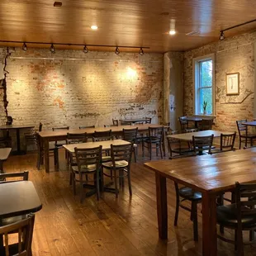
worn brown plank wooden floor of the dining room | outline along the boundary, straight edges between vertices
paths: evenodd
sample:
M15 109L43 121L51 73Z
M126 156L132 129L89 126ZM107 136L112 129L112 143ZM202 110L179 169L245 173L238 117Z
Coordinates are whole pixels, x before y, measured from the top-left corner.
M203 157L203 156L201 156ZM100 201L95 196L79 203L69 187L64 151L60 152L59 172L36 169L36 154L11 156L5 171L29 170L43 209L36 213L33 255L201 255L201 209L199 242L192 239L189 213L180 210L178 227L173 227L175 194L168 181L168 241L158 238L154 173L143 167L148 158L139 157L132 164L133 195L128 187L119 198L105 192ZM157 158L154 158L154 160ZM174 161L174 160L172 160ZM53 159L50 159L53 162ZM52 164L52 163L51 163ZM226 235L233 235L225 231ZM245 255L256 255L255 245L245 247ZM218 255L235 255L231 244L218 241Z

